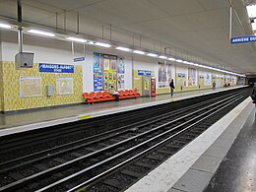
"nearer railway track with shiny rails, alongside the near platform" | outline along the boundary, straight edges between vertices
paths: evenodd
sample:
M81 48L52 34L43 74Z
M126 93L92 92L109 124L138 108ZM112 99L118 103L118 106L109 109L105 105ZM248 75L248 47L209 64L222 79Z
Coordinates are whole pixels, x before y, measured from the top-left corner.
M246 90L219 96L91 138L3 161L0 191L123 190L246 96Z

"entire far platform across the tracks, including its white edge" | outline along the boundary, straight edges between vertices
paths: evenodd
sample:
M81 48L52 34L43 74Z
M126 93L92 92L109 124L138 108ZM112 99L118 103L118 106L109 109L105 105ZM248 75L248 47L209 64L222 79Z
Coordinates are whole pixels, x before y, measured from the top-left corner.
M183 93L174 93L173 97L160 95L156 97L138 97L119 101L98 102L95 104L81 103L73 106L50 107L44 109L17 111L0 114L0 137L12 133L24 132L62 123L79 121L87 118L129 111L147 106L158 105L170 101L186 99L194 96L209 95L224 92L238 87L219 88L215 91L198 90Z

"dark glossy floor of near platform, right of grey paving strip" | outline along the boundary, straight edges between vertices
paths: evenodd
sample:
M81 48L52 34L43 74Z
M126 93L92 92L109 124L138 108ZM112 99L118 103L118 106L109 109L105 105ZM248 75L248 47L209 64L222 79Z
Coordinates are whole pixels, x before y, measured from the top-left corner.
M254 107L205 192L256 192L255 117Z

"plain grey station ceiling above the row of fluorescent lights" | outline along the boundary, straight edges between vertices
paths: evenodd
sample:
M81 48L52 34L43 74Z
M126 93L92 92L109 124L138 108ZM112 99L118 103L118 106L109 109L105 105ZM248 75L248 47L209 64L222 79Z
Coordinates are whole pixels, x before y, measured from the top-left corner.
M236 5L245 11L242 0ZM253 4L255 0L245 0ZM240 73L256 73L255 43L229 43L229 0L34 0L54 10L76 11L114 29L143 34ZM26 0L25 0L26 3ZM242 6L240 6L242 5ZM238 6L238 7L237 7ZM41 6L43 9L43 6ZM33 16L31 16L33 17ZM232 36L248 35L232 17ZM241 25L242 23L242 25ZM81 24L83 25L83 23ZM248 26L247 26L248 27Z

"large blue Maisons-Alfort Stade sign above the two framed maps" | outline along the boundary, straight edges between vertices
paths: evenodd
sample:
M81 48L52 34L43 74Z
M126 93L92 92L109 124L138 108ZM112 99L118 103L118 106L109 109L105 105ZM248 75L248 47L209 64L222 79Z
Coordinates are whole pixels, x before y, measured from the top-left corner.
M74 65L39 63L39 72L44 72L44 73L74 73Z

